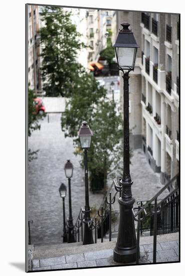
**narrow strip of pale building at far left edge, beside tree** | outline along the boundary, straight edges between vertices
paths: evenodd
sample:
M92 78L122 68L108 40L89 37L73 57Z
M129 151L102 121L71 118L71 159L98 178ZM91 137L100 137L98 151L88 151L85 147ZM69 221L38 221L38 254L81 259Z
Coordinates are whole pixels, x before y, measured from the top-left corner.
M39 7L28 6L28 81L36 94L42 91L40 72Z

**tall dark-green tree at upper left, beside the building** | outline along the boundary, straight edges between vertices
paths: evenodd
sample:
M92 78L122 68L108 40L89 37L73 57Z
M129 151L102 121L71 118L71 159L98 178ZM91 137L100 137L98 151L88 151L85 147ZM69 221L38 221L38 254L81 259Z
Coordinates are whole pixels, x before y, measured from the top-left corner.
M40 29L43 89L46 96L68 97L83 71L76 57L85 45L71 23L71 12L60 7L44 7L41 16L45 25Z

